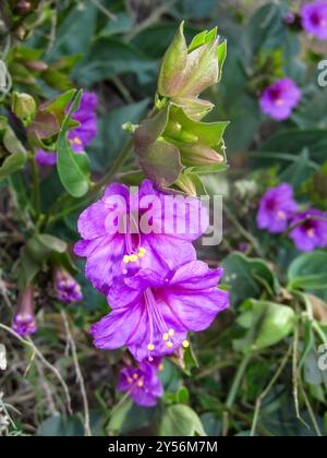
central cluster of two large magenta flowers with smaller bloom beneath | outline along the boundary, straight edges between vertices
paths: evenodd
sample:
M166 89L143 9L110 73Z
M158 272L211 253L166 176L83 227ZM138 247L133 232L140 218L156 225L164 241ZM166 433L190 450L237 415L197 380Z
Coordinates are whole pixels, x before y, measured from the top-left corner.
M87 260L86 277L111 309L92 327L95 345L128 347L138 369L122 372L120 388L142 405L161 393L156 361L189 348L187 334L206 329L229 306L228 292L218 288L222 269L197 261L192 244L207 229L205 209L189 197L184 212L167 210L166 197L149 180L137 192L111 184L81 215L83 240L75 245Z

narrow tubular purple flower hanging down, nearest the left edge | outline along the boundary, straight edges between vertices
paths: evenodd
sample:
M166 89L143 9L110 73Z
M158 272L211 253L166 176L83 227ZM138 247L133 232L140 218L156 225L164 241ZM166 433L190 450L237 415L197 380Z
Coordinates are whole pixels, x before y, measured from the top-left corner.
M12 328L22 337L37 332L34 313L34 289L32 285L19 296L17 313L13 320Z

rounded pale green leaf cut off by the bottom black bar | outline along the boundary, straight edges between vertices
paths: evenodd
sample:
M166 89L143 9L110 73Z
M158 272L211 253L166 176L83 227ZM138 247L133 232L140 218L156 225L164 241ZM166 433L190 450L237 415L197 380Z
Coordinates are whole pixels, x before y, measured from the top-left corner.
M197 414L187 406L175 405L166 409L158 431L159 436L206 436Z

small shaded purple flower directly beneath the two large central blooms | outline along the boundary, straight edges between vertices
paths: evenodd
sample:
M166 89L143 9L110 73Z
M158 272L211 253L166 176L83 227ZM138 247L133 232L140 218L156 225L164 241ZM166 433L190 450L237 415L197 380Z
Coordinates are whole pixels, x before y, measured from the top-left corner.
M156 406L158 398L164 395L158 377L159 363L160 360L155 360L153 363L143 362L137 367L124 367L119 375L118 389L129 391L138 406Z

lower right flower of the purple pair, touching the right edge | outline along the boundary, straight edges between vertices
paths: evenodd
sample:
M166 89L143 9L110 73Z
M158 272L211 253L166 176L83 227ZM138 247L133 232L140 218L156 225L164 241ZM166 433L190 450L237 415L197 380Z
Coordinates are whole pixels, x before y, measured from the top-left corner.
M327 214L311 209L296 216L292 227L290 238L298 250L310 252L327 246Z

